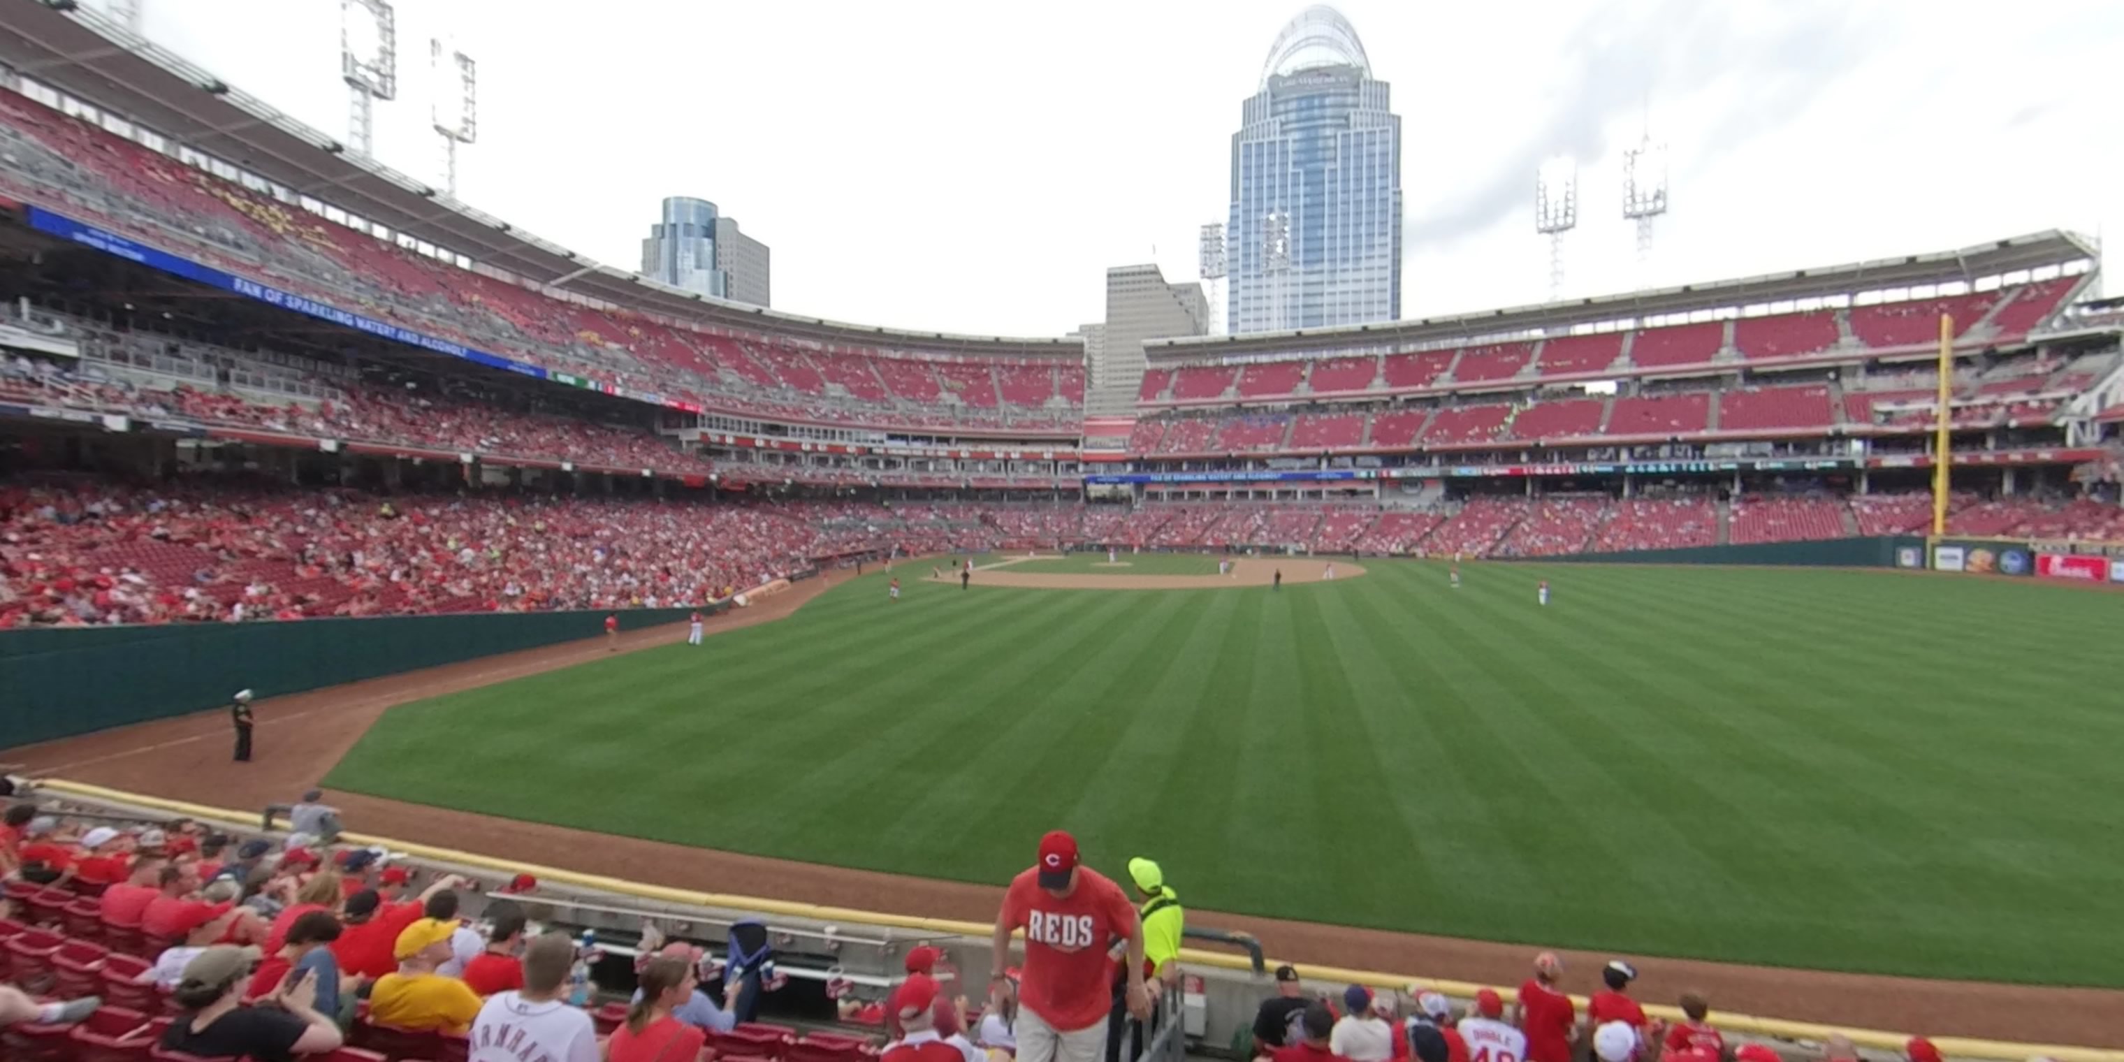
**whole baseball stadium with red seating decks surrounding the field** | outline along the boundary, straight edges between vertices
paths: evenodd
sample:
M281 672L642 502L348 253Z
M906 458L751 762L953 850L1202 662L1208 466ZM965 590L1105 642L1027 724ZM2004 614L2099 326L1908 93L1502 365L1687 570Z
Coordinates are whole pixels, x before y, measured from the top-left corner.
M864 1062L1032 975L1066 830L1185 905L1109 1058L1606 983L1676 1062L2124 1062L2084 236L1147 340L1104 414L1081 338L597 266L76 4L0 76L0 1058L191 1058L104 898L255 852L208 943L440 888L614 1043L671 939L699 1058ZM482 1058L346 1003L308 1058Z

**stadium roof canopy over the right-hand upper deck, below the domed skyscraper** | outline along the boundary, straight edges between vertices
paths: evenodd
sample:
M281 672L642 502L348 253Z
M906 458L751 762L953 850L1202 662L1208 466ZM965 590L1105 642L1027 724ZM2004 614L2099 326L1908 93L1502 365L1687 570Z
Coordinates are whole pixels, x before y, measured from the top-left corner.
M1160 361L1198 361L1221 357L1300 355L1330 350L1421 348L1449 342L1485 342L1529 336L1561 336L1604 327L1642 325L1646 319L1682 323L1716 316L1752 316L1778 312L1795 304L1820 302L1839 306L1867 291L1897 291L1941 285L1975 285L1984 278L2035 270L2065 270L2073 263L2092 268L2094 246L2069 232L2037 232L1960 251L1903 255L1892 259L1852 261L1818 270L1793 270L1737 280L1712 280L1621 295L1589 295L1582 299L1510 306L1466 314L1383 321L1376 325L1340 325L1330 329L1255 331L1245 336L1187 336L1179 340L1147 340L1149 357ZM1699 314L1699 316L1693 316Z

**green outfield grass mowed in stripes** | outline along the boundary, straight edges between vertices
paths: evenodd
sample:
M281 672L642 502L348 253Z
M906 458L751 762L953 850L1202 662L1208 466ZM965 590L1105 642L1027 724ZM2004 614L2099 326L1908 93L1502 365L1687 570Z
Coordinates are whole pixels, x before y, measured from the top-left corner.
M996 884L1066 826L1198 909L2124 986L2124 595L1368 567L898 603L869 576L701 648L395 707L329 784Z

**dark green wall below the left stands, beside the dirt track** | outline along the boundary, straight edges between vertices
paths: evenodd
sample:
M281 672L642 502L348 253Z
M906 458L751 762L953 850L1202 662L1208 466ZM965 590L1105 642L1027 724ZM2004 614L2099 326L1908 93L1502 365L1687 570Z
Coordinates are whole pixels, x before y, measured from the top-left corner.
M729 601L701 612L722 612ZM618 610L620 631L690 607ZM607 612L38 627L0 633L0 748L597 637Z

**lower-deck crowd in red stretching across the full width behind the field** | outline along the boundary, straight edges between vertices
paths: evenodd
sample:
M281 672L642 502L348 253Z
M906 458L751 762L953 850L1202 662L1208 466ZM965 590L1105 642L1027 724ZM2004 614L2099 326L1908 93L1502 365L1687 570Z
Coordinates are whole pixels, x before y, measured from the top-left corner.
M1799 514L1769 518L1769 514ZM1846 520L1850 514L1850 520ZM1920 495L1757 497L1731 542L1901 533ZM680 607L847 556L1003 548L1260 548L1542 556L1718 542L1708 497L1351 503L695 503L525 493L374 495L174 480L0 480L0 629L412 612ZM1965 535L2120 539L2124 510L1958 495Z

